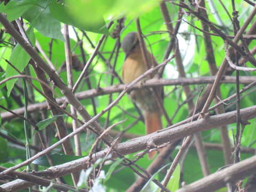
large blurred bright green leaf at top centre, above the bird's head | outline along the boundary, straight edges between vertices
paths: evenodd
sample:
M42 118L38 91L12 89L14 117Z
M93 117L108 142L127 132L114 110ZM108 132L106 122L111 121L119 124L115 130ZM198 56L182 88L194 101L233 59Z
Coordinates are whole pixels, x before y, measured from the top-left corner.
M51 4L51 13L61 22L73 25L86 31L107 34L103 18L115 20L125 15L134 18L152 10L159 5L159 0L101 1L101 0L66 0L65 5ZM92 17L93 15L93 17Z

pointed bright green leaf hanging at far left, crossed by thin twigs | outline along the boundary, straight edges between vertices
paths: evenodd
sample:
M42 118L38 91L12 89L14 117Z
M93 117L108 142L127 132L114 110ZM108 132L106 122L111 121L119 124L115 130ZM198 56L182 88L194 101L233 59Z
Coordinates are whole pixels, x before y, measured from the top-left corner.
M27 31L27 36L30 40L30 42L34 45L35 44L35 35L34 35L34 28L30 27ZM30 60L30 56L28 55L28 53L23 50L23 48L21 47L20 44L17 44L11 54L11 57L9 59L9 61L12 63L12 65L14 65L17 69L19 69L20 71L23 71L25 69L25 67L28 64L28 61ZM8 77L12 77L14 75L19 75L19 73L13 69L10 65L7 65L6 68L6 78ZM7 87L7 95L9 96L12 88L15 84L15 82L17 81L16 79L11 79L10 81L6 82L6 87Z

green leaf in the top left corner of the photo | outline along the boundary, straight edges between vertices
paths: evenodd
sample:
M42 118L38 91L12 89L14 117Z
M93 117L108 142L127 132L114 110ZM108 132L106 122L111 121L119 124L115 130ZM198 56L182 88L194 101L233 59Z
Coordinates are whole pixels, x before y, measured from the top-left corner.
M0 12L7 14L7 19L18 19L28 9L33 7L38 0L12 0L7 5L0 4Z

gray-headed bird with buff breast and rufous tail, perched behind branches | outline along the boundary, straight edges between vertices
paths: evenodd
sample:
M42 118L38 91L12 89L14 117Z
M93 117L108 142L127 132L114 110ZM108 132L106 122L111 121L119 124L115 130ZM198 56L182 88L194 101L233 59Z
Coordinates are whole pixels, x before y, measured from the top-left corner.
M147 64L143 61L143 55L140 48L138 33L133 31L128 33L121 43L121 47L125 53L125 61L123 64L122 77L124 83L131 83L134 79L141 76L148 70ZM146 50L146 57L149 62L149 66L158 65L154 56ZM154 75L154 74L153 74ZM141 80L141 82L149 79L147 76ZM157 87L156 93L159 95L162 101L163 87ZM153 91L148 88L140 88L138 90L132 90L129 93L129 97L134 101L138 107L142 110L143 117L145 119L146 133L150 134L155 131L161 130L162 125L162 113L158 107L156 98ZM156 155L157 151L151 151L148 154L149 159Z

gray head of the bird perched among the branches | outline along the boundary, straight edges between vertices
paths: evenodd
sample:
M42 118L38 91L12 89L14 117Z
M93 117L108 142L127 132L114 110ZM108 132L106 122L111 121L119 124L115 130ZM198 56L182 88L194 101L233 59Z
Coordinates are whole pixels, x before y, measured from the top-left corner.
M138 33L131 32L124 37L123 42L121 43L121 46L127 56L138 44L139 44Z

